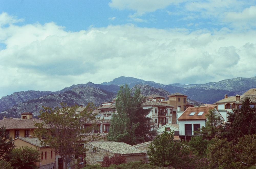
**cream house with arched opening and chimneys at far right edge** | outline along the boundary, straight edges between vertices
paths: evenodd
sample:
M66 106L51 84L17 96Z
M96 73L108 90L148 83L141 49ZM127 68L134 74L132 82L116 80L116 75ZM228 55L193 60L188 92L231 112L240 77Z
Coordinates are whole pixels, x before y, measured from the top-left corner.
M251 88L244 92L241 96L228 96L225 95L223 99L215 102L215 105L218 110L226 110L229 112L233 112L233 109L238 109L242 106L242 101L245 98L249 97L252 101L252 107L256 105L256 88Z

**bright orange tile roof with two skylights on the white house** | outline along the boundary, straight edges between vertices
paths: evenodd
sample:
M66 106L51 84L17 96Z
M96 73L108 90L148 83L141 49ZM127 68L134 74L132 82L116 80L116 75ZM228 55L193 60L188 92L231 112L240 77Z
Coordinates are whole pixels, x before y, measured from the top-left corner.
M188 107L184 113L178 118L178 120L206 120L206 114L209 114L209 110L213 110L215 107ZM216 110L217 111L217 110ZM195 112L194 115L189 115ZM198 115L199 112L204 112L202 115Z

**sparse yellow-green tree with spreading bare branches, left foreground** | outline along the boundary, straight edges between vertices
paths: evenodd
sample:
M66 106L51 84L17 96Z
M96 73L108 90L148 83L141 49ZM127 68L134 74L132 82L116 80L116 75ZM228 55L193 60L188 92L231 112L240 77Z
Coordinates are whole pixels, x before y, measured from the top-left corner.
M84 150L80 144L85 144L84 140L93 140L97 135L90 135L89 133L96 129L97 120L92 111L95 109L92 103L88 103L86 108L76 113L79 106L67 106L61 103L62 108L56 107L43 107L44 110L40 111L39 117L43 123L36 123L38 128L35 134L40 139L44 146L50 148L59 154L63 159L63 167L67 168L67 164L74 158L74 153L81 153ZM90 127L82 127L87 121L93 124Z

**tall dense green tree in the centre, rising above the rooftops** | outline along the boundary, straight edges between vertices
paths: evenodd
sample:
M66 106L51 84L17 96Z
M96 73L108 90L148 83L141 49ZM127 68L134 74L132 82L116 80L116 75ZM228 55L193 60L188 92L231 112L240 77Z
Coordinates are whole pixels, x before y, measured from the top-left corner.
M132 90L127 84L120 86L115 104L117 113L113 114L110 123L109 141L134 145L147 141L148 135L155 134L149 124L151 119L146 117L150 109L143 109L143 102L139 88L136 88L132 95Z

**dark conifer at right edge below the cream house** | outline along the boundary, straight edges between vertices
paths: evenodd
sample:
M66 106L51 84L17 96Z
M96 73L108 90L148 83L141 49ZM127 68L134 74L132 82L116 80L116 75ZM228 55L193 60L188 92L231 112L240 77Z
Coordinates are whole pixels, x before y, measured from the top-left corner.
M243 137L244 135L252 135L256 133L256 107L251 107L252 101L249 97L242 101L242 106L229 113L226 137L228 140Z

